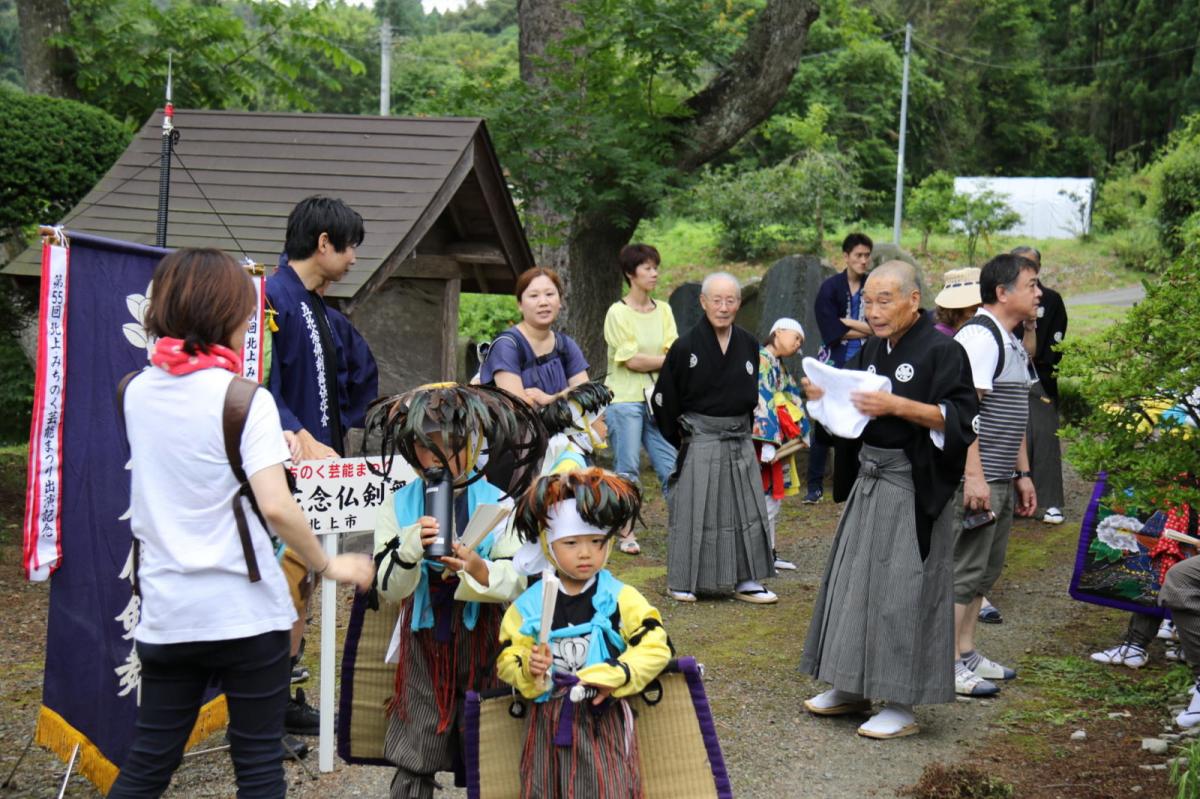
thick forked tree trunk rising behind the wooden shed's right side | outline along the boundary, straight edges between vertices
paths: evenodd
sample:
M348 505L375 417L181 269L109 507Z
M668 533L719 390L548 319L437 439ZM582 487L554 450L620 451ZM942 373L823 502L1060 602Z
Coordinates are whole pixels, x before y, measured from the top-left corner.
M527 84L545 85L546 71L553 68L546 55L548 47L581 23L571 7L570 0L517 0L521 79ZM691 173L767 119L787 91L816 18L817 0L768 0L738 52L689 101L692 114L679 120L674 152L665 161L680 173ZM529 188L528 218L539 233L552 232L560 240L556 246L535 247L534 257L562 274L562 326L583 349L590 374L599 377L606 368L604 318L620 298L617 253L637 229L646 211L641 204L644 198L620 203L619 214L612 208L564 211L538 200L536 186Z

